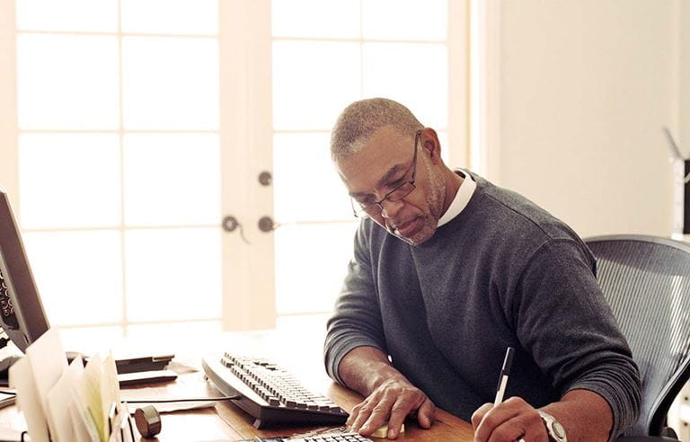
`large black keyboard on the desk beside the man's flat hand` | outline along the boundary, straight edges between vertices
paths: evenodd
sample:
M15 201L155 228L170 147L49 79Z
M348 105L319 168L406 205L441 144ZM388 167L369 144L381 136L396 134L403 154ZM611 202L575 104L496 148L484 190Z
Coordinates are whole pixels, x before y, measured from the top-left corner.
M263 358L226 353L203 358L208 379L254 417L257 429L276 425L339 425L348 413L321 394L309 392L295 376Z

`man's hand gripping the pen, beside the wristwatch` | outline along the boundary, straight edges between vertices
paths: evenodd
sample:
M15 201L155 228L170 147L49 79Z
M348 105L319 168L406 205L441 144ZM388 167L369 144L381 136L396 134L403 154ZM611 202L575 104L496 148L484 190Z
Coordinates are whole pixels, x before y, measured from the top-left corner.
M484 403L472 415L474 442L525 442L549 440L544 421L534 407L519 397L511 397L494 407Z

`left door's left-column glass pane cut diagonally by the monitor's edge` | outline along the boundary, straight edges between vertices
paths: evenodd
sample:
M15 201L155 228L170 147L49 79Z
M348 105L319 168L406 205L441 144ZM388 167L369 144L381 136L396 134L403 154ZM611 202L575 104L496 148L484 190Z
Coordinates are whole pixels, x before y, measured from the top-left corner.
M51 325L121 320L119 232L25 233L23 239Z

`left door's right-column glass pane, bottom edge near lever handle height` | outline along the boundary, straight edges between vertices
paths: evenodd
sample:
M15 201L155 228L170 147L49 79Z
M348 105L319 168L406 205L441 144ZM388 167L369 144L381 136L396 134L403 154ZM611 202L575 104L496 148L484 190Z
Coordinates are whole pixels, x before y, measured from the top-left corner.
M124 137L125 224L220 223L220 159L214 134Z

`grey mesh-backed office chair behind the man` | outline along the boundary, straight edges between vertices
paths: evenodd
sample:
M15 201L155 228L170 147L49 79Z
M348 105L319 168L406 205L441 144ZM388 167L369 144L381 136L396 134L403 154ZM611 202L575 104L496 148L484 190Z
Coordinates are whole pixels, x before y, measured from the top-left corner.
M597 257L597 281L640 368L640 417L618 440L676 440L665 423L690 377L690 244L642 235L585 243Z

